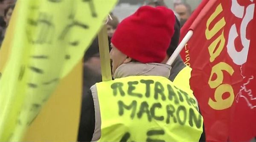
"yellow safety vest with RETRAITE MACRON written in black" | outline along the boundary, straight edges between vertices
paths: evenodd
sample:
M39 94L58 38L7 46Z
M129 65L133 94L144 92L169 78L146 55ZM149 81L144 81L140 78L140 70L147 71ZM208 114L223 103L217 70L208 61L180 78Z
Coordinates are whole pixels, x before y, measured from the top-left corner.
M96 84L99 141L198 141L203 117L195 97L160 76L129 76Z

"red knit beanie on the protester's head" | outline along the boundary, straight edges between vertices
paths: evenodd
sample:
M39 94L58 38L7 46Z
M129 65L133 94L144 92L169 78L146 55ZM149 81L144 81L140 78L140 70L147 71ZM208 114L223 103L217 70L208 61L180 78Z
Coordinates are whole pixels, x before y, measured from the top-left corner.
M164 6L143 6L122 20L111 42L122 53L137 61L160 63L166 57L174 25L172 10Z

